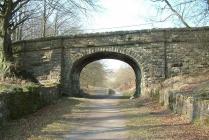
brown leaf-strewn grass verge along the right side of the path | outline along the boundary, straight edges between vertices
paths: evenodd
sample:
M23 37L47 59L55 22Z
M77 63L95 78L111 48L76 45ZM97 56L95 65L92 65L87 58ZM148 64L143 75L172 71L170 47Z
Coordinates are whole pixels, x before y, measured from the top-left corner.
M209 128L190 124L181 116L160 107L156 101L139 98L123 102L128 113L130 139L142 140L207 140ZM127 115L127 114L126 114Z

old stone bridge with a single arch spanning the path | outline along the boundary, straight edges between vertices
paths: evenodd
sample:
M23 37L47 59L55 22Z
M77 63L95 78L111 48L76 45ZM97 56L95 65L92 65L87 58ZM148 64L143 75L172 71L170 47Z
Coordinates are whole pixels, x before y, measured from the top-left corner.
M90 62L111 58L135 71L136 94L166 78L209 68L209 28L152 29L80 34L15 42L17 65L42 84L81 94L79 75Z

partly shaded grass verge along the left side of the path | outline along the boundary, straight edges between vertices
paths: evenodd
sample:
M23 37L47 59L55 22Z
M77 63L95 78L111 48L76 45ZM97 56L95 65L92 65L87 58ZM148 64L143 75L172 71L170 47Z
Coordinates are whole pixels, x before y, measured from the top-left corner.
M74 98L60 99L56 104L3 127L1 140L58 140L68 134L72 124L70 114L79 101Z

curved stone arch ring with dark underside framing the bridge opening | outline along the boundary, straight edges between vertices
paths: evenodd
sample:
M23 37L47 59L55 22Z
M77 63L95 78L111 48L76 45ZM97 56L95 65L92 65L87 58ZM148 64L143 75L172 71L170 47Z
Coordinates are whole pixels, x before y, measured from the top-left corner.
M132 54L134 55L134 54ZM73 96L81 96L82 91L80 90L80 73L82 69L89 63L100 60L100 59L117 59L129 64L134 72L136 77L136 91L135 96L139 96L141 94L141 78L142 72L139 63L134 56L130 56L121 52L116 52L115 50L102 50L102 51L86 51L85 55L77 58L70 72L70 89L71 95Z

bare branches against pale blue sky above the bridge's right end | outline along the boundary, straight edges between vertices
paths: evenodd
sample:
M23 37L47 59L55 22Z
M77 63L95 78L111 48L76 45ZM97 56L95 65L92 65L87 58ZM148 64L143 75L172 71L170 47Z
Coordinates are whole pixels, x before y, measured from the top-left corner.
M204 26L209 21L208 0L151 0L158 10L157 19L173 20L185 27Z

